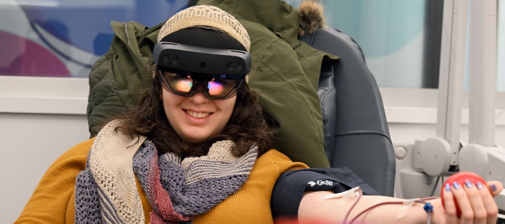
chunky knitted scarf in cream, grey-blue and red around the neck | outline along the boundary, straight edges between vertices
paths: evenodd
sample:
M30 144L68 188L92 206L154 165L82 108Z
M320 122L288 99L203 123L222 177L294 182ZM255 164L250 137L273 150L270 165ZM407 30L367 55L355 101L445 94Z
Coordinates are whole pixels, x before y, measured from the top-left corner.
M131 139L107 124L96 137L86 169L77 175L76 223L144 223L135 177L152 211L149 223L190 223L236 192L247 180L258 150L235 157L232 141L214 143L206 156L158 155L145 137Z

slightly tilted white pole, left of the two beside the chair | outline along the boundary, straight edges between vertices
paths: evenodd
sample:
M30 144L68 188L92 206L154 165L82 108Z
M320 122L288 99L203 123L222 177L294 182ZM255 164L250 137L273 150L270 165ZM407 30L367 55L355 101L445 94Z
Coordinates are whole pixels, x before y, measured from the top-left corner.
M449 142L451 165L458 164L460 149L467 11L467 1L444 1L436 136Z

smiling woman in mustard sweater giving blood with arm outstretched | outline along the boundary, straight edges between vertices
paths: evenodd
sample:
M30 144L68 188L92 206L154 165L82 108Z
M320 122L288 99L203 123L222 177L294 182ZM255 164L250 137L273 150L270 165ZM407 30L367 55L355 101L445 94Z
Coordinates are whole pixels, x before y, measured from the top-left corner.
M243 26L211 6L177 13L165 23L158 41L243 52L250 46ZM272 210L291 206L272 192L300 192L276 182L286 171L308 167L269 150L273 136L245 77L221 79L162 66L151 70L153 85L138 105L49 167L16 223L272 223ZM289 183L292 176L281 178ZM349 176L354 181L340 183L369 189L356 175ZM454 195L462 222L495 221L492 196L502 186L488 185L494 186L492 194L481 185L449 186L445 209L439 199L432 201L432 220L459 221ZM290 212L300 222L342 221L356 199L324 200L329 194L306 192ZM350 217L378 202L399 200L363 196ZM396 219L399 208L379 207L358 221L427 221L419 204Z

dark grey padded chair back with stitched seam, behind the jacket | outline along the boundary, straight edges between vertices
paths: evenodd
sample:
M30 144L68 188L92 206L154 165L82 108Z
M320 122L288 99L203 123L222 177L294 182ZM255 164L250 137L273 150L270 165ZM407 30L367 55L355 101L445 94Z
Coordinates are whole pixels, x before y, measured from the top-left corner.
M395 158L379 87L358 43L333 28L300 40L342 57L323 62L318 94L331 167L348 166L379 194L393 196Z

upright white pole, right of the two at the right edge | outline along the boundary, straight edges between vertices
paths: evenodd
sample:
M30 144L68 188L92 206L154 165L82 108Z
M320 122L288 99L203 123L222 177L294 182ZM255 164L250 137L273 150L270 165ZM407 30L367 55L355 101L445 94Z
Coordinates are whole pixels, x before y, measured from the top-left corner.
M494 146L496 0L470 1L469 143Z

